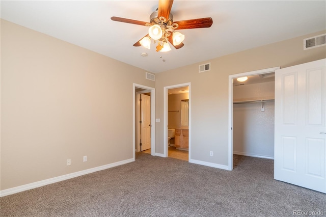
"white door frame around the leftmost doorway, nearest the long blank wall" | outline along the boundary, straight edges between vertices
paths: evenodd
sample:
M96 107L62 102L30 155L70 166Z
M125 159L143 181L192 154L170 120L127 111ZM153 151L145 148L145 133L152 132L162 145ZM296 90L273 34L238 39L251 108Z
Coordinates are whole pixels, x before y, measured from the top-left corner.
M151 155L155 155L155 88L147 87L144 85L139 85L133 83L132 90L132 123L133 123L133 142L132 142L132 151L133 151L133 160L135 160L135 151L136 151L136 100L137 94L136 89L141 88L151 93Z

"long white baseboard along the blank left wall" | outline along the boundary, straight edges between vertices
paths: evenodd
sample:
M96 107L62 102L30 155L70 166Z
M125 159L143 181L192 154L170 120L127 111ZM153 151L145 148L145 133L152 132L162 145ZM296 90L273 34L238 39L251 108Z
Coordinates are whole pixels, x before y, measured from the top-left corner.
M41 187L41 186L44 186L44 185L47 185L47 184L52 184L52 183L55 183L55 182L71 179L71 178L74 178L74 177L77 177L77 176L83 176L83 175L86 175L86 174L89 174L89 173L94 173L94 172L97 172L97 171L100 171L100 170L105 170L105 169L108 169L108 168L117 167L117 166L127 164L127 163L132 162L132 161L134 161L133 158L118 161L118 162L114 162L112 164L107 164L107 165L103 165L103 166L99 166L99 167L94 167L94 168L83 170L83 171L78 171L78 172L75 172L75 173L70 173L70 174L63 175L63 176L58 176L58 177L54 177L54 178L50 178L50 179L45 179L45 180L42 180L42 181L33 182L33 183L30 183L30 184L24 184L24 185L13 187L13 188L8 188L8 189L0 191L0 197L4 197L4 196L7 196L7 195L12 195L12 194L15 194L15 193L18 193L18 192L23 192L23 191L33 189L33 188L36 188L36 187Z

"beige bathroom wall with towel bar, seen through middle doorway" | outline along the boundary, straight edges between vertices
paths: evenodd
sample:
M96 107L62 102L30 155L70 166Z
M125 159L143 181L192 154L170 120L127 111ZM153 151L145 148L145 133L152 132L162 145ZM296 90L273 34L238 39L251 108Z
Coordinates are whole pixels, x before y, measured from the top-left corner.
M181 100L182 99L189 99L189 93L171 94L168 96L168 111L179 111L179 112L169 112L168 114L169 129L181 127Z

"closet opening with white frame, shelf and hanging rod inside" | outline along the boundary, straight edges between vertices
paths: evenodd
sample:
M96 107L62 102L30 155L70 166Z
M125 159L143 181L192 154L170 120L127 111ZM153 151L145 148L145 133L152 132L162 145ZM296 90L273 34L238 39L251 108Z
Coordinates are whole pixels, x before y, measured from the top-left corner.
M275 70L229 76L229 170L233 157L274 159Z

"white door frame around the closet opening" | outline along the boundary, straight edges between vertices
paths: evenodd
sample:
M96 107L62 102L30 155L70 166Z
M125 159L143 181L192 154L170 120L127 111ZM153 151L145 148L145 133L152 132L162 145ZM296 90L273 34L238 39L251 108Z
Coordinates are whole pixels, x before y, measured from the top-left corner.
M260 69L256 71L243 72L239 74L229 75L229 127L228 127L228 170L233 170L233 79L237 77L251 76L257 74L265 74L275 72L280 67L268 69Z

